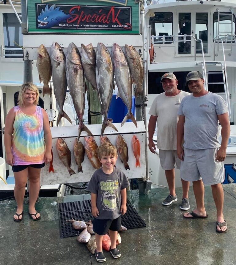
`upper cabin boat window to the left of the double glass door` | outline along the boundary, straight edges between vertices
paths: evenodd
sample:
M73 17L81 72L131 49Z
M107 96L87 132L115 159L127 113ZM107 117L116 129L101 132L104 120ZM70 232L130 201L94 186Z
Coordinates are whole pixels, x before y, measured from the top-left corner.
M172 12L155 12L155 17L150 17L151 35L154 37L154 43L163 42L165 35L165 44L172 43L173 37L173 13Z

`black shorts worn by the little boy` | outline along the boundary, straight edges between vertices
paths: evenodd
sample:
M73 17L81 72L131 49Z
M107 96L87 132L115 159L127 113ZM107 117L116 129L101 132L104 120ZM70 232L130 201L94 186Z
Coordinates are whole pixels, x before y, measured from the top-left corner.
M92 229L96 234L100 236L104 236L105 234L107 234L108 229L112 231L119 231L121 229L120 216L114 220L97 219L94 217Z

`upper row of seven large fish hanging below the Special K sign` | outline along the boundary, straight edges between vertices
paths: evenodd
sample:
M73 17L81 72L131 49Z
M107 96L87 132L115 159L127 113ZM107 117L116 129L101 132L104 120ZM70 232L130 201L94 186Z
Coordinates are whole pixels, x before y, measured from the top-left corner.
M87 90L85 77L91 83L93 90L97 90L101 102L103 124L101 134L106 127L117 128L107 119L108 109L115 87L114 75L118 87L117 97L120 97L128 113L124 117L121 126L127 119L131 119L137 128L136 120L131 112L132 109L132 83L136 86L136 97L143 95L144 68L139 53L133 46L125 45L126 56L116 43L112 46L112 57L103 43L97 44L96 53L92 44L81 44L81 54L72 42L69 44L65 56L63 49L57 42L51 46L49 56L45 46L38 48L37 69L40 82L43 82L43 95L50 95L49 80L53 78L54 94L59 107L57 126L62 117L70 123L69 116L63 111L67 86L69 88L76 114L79 119L78 139L81 131L92 135L91 131L83 123L85 109L85 92Z

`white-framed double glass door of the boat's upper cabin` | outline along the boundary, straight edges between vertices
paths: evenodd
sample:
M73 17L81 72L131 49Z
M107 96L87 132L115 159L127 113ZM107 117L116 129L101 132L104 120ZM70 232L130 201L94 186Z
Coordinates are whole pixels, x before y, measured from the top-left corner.
M176 33L175 35L192 35L203 41L205 55L210 55L210 11L177 10L176 11ZM186 37L186 43L180 42L184 37L179 37L175 43L175 56L195 56L195 41L192 37ZM191 41L190 41L191 40ZM196 43L196 54L202 56L200 41Z

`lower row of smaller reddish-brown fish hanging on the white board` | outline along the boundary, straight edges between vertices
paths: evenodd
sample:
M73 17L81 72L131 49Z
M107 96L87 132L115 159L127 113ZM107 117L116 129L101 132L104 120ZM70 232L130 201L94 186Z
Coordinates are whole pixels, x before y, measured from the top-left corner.
M103 144L104 142L111 143L107 136L101 136L100 141L101 144ZM85 137L85 147L83 146L82 142L78 141L78 139L75 138L73 152L74 152L75 162L78 166L78 173L83 172L81 164L84 161L85 152L93 168L99 169L101 167L101 162L99 161L97 156L97 148L98 148L97 143L92 136ZM129 159L128 146L124 138L120 134L118 134L118 136L116 137L116 148L118 156L120 157L121 162L124 164L125 169L126 170L130 169L128 165L128 159ZM70 176L75 174L75 171L71 168L71 151L69 150L66 142L62 138L57 139L56 149L59 159L61 160L62 164L67 168ZM133 135L132 150L136 158L136 167L137 166L141 167L139 160L140 149L141 146L139 139L137 138L136 135Z

